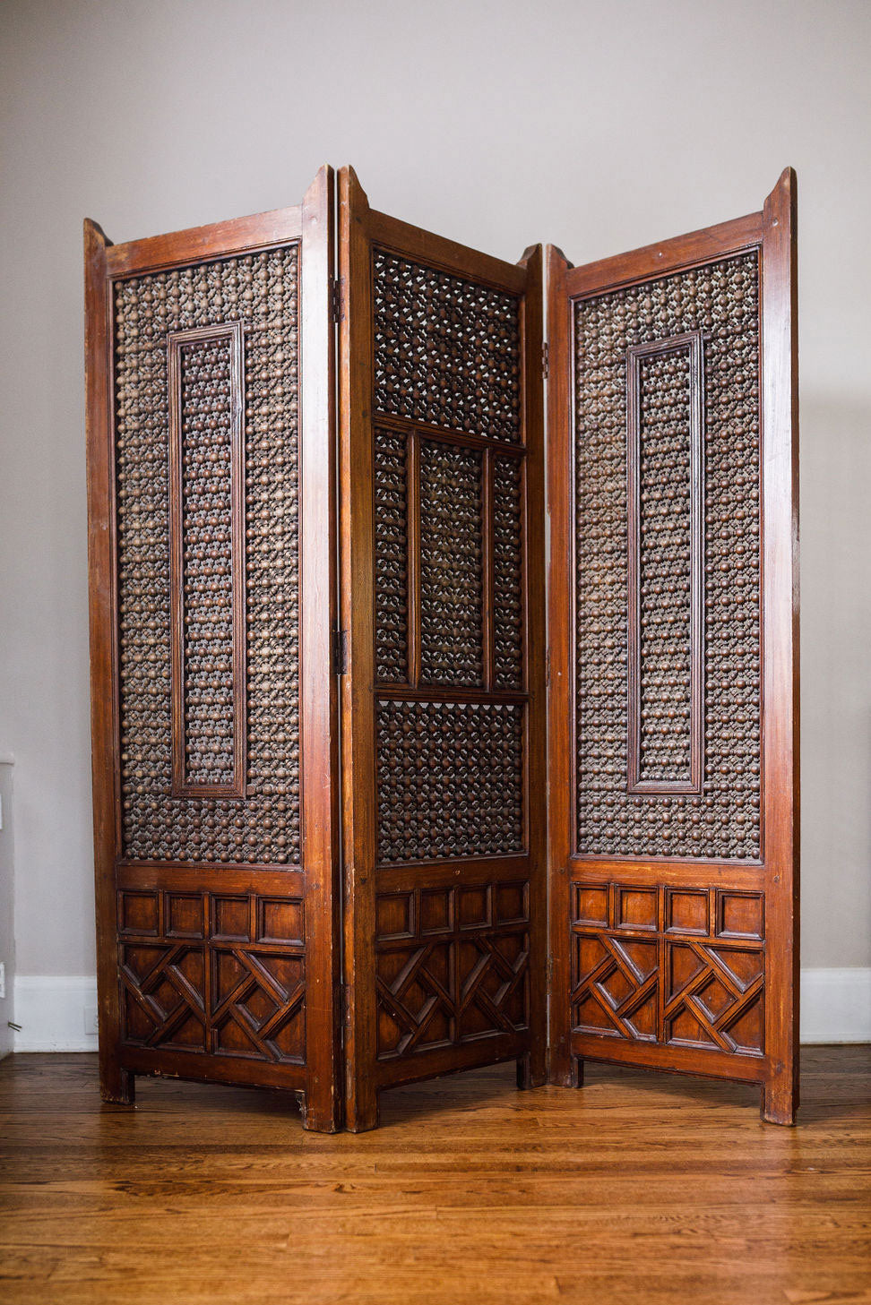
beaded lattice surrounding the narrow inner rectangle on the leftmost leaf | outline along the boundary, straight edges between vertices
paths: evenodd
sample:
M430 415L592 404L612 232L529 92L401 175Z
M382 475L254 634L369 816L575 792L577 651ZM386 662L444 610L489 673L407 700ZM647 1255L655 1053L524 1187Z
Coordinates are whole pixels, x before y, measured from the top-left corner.
M172 797L167 334L242 321L247 797ZM115 288L121 818L125 856L298 863L296 247Z

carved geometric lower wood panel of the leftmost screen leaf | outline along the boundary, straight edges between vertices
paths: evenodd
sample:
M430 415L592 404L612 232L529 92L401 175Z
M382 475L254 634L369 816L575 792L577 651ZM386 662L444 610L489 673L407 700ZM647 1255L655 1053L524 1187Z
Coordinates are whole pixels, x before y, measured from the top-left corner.
M118 923L124 1043L306 1062L302 898L123 891Z

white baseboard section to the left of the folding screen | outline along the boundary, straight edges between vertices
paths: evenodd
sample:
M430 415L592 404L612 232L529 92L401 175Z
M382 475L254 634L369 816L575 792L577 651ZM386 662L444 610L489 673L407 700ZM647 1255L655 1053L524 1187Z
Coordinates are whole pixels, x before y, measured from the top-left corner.
M94 975L16 975L17 1052L95 1052Z

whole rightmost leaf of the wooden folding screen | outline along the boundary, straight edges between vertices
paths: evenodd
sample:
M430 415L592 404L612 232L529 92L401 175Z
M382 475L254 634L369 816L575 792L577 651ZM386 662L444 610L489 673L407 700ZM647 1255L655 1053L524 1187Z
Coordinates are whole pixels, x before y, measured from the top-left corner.
M551 1073L797 1105L794 175L763 213L550 257Z

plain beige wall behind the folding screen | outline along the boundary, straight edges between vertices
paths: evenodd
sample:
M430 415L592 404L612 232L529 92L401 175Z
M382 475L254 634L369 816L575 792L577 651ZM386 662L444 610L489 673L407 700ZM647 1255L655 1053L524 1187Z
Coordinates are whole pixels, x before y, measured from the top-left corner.
M295 204L584 262L800 183L804 927L871 964L871 5L5 0L3 666L22 975L93 972L81 219Z

